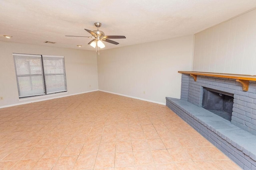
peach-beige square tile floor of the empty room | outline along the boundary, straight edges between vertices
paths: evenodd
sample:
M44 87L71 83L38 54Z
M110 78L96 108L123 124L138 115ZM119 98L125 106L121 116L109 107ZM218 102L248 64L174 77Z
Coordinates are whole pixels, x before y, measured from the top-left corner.
M0 109L0 169L240 168L168 107L91 92Z

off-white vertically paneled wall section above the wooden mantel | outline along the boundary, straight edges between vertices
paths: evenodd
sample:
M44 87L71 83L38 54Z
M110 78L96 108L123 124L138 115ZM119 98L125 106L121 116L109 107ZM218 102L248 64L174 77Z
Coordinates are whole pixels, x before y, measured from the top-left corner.
M196 33L193 71L256 75L256 10Z

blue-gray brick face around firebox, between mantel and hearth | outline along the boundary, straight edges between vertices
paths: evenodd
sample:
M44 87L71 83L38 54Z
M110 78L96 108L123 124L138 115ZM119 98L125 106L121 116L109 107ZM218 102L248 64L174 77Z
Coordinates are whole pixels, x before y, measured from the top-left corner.
M248 91L243 91L234 79L198 76L194 81L188 74L182 74L181 100L202 107L204 87L234 94L231 123L256 135L256 82L250 82Z

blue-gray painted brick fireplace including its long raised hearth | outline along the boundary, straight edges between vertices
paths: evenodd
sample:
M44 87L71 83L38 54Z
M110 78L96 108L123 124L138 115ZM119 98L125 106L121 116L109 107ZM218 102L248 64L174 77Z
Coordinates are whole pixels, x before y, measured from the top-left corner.
M166 98L166 106L239 166L256 169L256 82L241 81L182 74L181 99ZM231 121L202 108L204 88L234 96Z

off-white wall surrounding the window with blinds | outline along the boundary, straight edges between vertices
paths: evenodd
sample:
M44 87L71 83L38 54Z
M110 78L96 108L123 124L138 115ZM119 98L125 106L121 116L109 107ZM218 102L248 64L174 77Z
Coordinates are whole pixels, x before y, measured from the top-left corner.
M68 92L19 100L12 53L64 56ZM4 97L4 100L0 100L0 107L93 90L98 90L97 59L94 51L0 41L0 96Z

